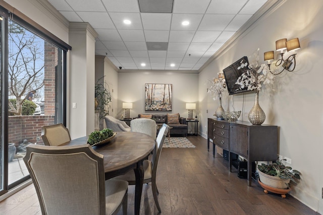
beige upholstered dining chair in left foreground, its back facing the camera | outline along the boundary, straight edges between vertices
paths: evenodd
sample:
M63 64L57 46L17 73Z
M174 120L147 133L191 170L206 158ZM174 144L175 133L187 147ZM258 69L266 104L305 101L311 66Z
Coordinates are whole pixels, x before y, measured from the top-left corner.
M127 214L128 182L104 179L103 155L90 145L29 145L24 162L42 214Z

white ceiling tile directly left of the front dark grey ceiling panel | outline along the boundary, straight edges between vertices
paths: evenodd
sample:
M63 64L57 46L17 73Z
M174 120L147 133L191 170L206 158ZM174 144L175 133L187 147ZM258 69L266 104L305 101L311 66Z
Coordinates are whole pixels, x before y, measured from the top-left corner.
M140 12L137 0L102 0L102 3L108 12Z

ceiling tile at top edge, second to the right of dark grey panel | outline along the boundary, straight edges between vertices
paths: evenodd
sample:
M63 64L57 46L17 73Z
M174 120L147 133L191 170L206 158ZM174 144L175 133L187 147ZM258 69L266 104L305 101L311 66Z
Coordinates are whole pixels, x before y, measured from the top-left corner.
M247 0L217 0L211 1L206 14L237 14Z

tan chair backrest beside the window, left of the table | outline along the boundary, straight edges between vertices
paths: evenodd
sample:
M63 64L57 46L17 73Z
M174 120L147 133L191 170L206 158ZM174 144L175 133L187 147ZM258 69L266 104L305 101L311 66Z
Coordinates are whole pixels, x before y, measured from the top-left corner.
M41 138L46 146L59 146L71 140L69 130L62 123L41 127Z

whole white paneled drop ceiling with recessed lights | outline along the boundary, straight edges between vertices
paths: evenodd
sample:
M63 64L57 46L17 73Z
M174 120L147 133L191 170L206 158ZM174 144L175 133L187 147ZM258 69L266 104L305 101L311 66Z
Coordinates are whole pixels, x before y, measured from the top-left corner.
M95 54L118 68L198 70L266 0L48 2L70 22L88 22L98 33Z

